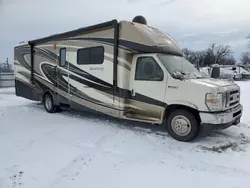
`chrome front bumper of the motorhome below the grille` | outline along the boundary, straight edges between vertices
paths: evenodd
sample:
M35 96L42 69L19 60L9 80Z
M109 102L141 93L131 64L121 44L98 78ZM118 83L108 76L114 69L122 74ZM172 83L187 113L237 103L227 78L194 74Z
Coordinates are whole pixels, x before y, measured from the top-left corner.
M201 125L214 125L217 128L227 128L240 123L242 105L225 112L209 113L200 112Z

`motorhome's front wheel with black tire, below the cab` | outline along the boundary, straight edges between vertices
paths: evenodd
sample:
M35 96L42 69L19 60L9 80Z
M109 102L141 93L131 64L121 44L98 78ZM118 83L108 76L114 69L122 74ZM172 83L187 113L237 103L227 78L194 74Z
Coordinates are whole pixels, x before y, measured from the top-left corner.
M177 109L166 119L166 129L176 140L193 141L200 133L200 126L195 116L187 110Z

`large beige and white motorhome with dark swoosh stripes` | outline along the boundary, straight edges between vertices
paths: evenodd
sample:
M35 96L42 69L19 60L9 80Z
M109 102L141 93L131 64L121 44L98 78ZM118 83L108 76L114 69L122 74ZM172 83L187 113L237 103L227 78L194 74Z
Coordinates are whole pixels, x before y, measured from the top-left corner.
M49 113L83 109L161 125L179 141L242 116L239 86L204 78L142 16L31 40L14 54L16 95L42 101Z

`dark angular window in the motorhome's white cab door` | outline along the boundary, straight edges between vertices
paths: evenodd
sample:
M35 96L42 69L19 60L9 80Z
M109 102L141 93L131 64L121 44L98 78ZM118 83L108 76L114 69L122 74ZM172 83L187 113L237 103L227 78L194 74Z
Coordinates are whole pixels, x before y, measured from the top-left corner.
M139 57L136 62L135 80L162 81L163 71L153 57Z

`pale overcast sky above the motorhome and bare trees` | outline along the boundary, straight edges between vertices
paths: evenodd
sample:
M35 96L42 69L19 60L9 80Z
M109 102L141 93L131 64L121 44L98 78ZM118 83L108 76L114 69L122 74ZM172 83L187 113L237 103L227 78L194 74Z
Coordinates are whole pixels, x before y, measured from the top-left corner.
M12 60L21 41L136 15L181 47L229 44L239 57L250 34L249 10L250 0L0 0L0 62Z

